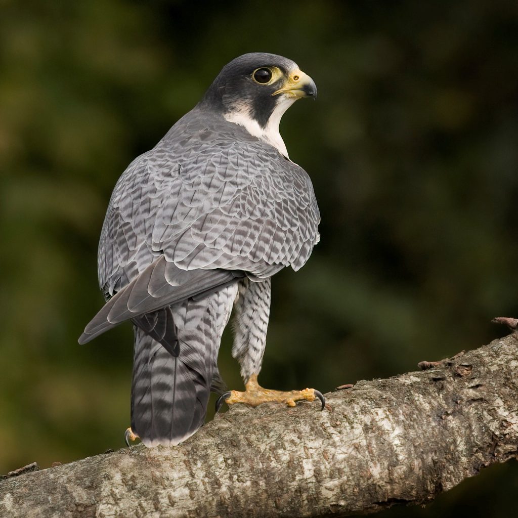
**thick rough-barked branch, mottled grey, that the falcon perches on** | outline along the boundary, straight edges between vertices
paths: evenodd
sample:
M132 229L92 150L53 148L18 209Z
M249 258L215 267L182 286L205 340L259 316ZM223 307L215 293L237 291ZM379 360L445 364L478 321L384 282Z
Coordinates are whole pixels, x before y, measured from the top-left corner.
M429 366L329 393L323 412L232 408L177 448L9 477L0 516L343 516L428 502L518 455L518 334Z

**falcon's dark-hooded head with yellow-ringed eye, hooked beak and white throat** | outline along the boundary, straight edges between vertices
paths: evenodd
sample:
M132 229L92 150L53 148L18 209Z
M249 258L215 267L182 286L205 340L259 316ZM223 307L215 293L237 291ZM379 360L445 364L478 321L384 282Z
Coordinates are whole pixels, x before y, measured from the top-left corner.
M316 86L295 62L277 54L252 52L223 67L200 106L244 126L287 157L279 122L283 113L303 97L315 99Z

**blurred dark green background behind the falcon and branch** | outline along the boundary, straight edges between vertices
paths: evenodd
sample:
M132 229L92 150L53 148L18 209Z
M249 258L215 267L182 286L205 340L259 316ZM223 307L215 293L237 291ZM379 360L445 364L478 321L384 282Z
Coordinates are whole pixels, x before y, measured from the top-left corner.
M273 280L262 384L328 391L415 370L518 316L515 0L0 0L0 473L122 447L131 326L77 343L103 303L108 199L251 51L290 57L319 88L281 133L322 239ZM220 367L238 388L230 348L227 333ZM386 515L501 516L516 490L507 464Z

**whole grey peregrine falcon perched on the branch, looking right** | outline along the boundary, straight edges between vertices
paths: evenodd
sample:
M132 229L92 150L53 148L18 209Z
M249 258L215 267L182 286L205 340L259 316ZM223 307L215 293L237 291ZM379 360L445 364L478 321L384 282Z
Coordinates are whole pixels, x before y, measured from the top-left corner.
M270 277L298 270L319 241L320 214L306 171L279 134L313 80L285 57L250 53L223 67L202 100L118 180L98 250L106 304L85 343L131 320L135 330L131 427L148 447L176 445L204 423L210 391L220 407L278 401L313 389L263 389ZM234 310L232 355L246 391L226 391L218 371Z

